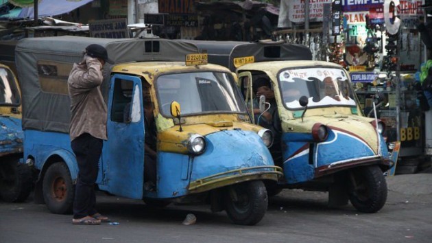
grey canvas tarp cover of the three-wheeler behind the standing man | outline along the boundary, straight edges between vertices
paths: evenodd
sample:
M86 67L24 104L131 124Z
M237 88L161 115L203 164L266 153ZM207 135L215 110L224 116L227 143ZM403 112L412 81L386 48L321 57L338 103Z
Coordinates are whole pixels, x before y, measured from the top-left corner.
M159 52L147 52L145 44L159 43ZM106 47L116 64L134 61L184 61L186 54L197 53L191 43L165 39L106 39L78 36L24 38L15 49L15 60L23 95L23 129L69 132L70 100L67 94L43 91L38 77L38 62L62 62L72 67L82 60L87 45ZM110 69L104 69L102 91L108 95ZM67 76L63 77L67 80ZM64 81L66 82L66 81Z

